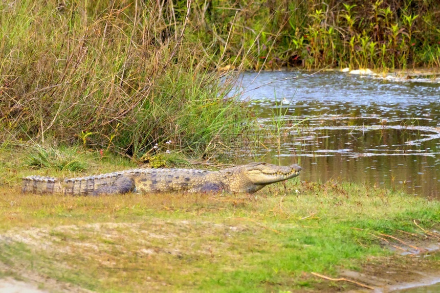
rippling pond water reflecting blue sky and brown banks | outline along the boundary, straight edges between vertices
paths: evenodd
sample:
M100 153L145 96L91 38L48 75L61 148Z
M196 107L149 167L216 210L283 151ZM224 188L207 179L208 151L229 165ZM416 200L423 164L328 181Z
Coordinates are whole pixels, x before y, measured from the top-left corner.
M344 179L438 198L440 83L289 71L244 73L239 82L241 99L260 117L250 155L299 163L307 181ZM245 154L238 155L249 161Z

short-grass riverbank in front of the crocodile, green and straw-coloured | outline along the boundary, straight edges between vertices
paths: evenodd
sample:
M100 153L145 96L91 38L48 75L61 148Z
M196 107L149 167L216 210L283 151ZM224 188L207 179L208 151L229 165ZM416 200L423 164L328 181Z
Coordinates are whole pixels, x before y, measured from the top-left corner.
M439 215L438 201L300 178L252 196L41 196L2 187L0 261L3 275L21 270L96 291L348 290L358 286L312 273L409 265L390 247L411 254L425 252L422 242L438 245ZM424 267L438 272L439 257L423 258Z

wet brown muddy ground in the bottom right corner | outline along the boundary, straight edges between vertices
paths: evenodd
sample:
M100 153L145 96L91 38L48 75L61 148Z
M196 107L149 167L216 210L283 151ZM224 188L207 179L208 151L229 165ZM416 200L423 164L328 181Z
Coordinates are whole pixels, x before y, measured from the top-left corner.
M395 252L394 255L371 257L365 260L359 272L340 269L338 278L345 278L360 284L349 281L329 281L321 278L323 282L311 291L388 293L398 289L440 282L440 238L427 236L424 240L415 237L397 239L399 241L382 241L382 245L386 249ZM362 287L361 284L371 288Z

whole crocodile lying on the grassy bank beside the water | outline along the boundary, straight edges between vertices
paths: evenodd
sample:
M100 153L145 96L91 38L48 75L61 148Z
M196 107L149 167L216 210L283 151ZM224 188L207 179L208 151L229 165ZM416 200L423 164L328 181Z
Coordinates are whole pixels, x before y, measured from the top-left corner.
M298 165L251 163L218 171L200 169L131 169L87 177L28 176L23 192L70 195L124 194L128 192L254 193L268 184L299 175Z

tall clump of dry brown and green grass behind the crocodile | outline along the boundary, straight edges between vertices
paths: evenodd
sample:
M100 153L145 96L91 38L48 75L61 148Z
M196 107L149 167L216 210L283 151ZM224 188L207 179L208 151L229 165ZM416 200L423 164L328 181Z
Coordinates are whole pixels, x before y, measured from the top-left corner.
M0 4L0 139L82 143L139 158L194 155L238 133L246 108L209 71L188 7L172 2Z

